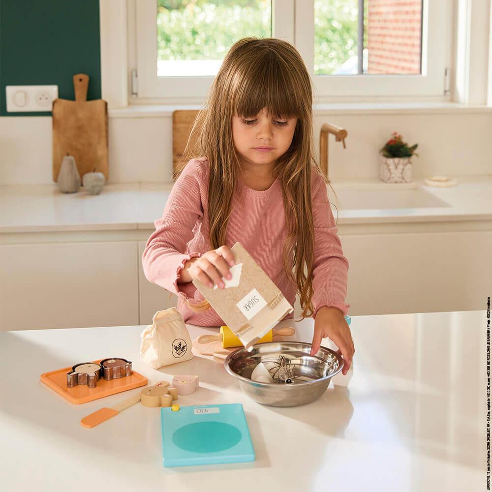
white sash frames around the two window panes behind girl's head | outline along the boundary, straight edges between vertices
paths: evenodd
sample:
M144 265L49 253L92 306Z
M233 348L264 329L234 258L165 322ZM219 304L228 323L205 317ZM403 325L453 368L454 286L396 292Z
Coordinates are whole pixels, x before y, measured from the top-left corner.
M449 100L443 91L445 56L451 44L449 0L423 0L422 74L419 75L314 75L314 0L273 0L272 36L285 39L299 51L314 85L317 102L363 98L370 94L389 98L425 97L432 101ZM135 3L136 54L139 98L165 98L166 102L186 103L203 100L214 77L157 77L157 0ZM149 29L149 26L155 26ZM167 94L172 94L168 96ZM178 95L179 94L179 95Z

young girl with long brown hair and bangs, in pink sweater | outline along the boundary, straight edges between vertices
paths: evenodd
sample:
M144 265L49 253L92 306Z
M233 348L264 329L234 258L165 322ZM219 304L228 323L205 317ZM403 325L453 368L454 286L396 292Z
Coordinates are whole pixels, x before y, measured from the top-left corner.
M314 318L311 354L331 338L346 374L354 354L344 319L348 261L314 154L311 80L301 56L280 39L239 40L206 106L184 153L194 158L147 241L145 276L178 294L185 322L221 326L191 281L224 288L230 246L239 241L292 306L299 293L302 319Z

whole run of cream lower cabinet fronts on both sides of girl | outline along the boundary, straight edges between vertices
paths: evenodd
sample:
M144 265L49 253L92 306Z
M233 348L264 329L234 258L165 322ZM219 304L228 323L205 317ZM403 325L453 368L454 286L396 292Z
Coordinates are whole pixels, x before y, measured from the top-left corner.
M149 234L0 246L0 330L152 323L178 298L143 273ZM339 234L352 315L481 309L492 291L492 231Z

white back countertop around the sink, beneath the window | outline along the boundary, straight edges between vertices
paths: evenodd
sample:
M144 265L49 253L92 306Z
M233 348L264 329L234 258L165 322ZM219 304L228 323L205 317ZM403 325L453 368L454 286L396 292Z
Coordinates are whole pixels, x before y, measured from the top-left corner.
M492 175L456 177L457 186L438 188L423 180L413 184L384 184L377 179L332 182L335 191L358 187L384 192L422 186L449 207L399 209L340 209L338 224L492 220ZM162 215L172 183L107 184L100 195L82 187L61 193L56 184L0 186L0 233L154 229Z

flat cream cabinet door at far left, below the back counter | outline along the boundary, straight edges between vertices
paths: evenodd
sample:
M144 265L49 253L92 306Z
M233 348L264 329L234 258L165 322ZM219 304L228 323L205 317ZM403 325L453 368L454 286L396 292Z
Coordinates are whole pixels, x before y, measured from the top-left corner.
M0 246L0 329L139 324L136 241Z

